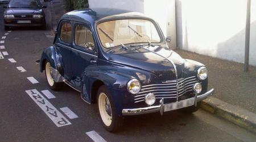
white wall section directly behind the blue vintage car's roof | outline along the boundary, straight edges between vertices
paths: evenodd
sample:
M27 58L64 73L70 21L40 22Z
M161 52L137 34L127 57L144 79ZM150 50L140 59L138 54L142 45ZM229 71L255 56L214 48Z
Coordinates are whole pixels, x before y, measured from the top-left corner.
M172 36L169 46L176 48L175 0L89 0L89 7L142 12L158 22L165 36Z

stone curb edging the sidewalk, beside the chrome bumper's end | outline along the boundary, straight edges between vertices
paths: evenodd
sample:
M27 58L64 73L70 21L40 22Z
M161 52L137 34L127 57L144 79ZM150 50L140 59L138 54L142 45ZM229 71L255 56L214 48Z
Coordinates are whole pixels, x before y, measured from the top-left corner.
M256 133L256 114L252 112L230 105L214 97L201 101L201 108Z

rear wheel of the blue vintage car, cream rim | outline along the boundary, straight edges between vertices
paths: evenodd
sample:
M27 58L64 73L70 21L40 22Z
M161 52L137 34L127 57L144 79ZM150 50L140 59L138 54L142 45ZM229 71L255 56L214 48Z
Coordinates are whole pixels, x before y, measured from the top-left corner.
M52 75L51 75L51 68L52 68L52 66L51 66L51 64L48 61L46 62L46 66L45 67L46 67L45 68L46 69L45 72L46 72L46 79L47 79L48 86L52 90L55 90L55 91L59 90L61 88L62 83L61 82L55 82L53 80Z

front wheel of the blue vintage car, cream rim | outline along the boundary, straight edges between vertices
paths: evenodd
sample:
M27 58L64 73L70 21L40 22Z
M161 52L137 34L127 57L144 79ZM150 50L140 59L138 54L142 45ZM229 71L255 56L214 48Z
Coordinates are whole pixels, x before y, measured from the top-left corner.
M98 112L101 116L101 122L109 132L116 132L122 127L123 118L119 117L114 102L105 85L98 89L97 94Z

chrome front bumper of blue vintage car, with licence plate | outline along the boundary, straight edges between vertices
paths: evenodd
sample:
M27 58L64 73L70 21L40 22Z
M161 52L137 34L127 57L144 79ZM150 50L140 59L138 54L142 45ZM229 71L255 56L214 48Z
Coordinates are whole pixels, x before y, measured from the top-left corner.
M143 108L131 108L131 109L123 109L123 115L140 115L140 114L149 114L152 112L160 112L163 115L165 111L177 110L179 108L188 107L197 105L197 102L209 97L214 93L214 89L210 89L207 93L202 95L195 95L194 98L184 99L183 101L168 103L164 105L163 98L160 100L160 105L158 106L149 106Z

